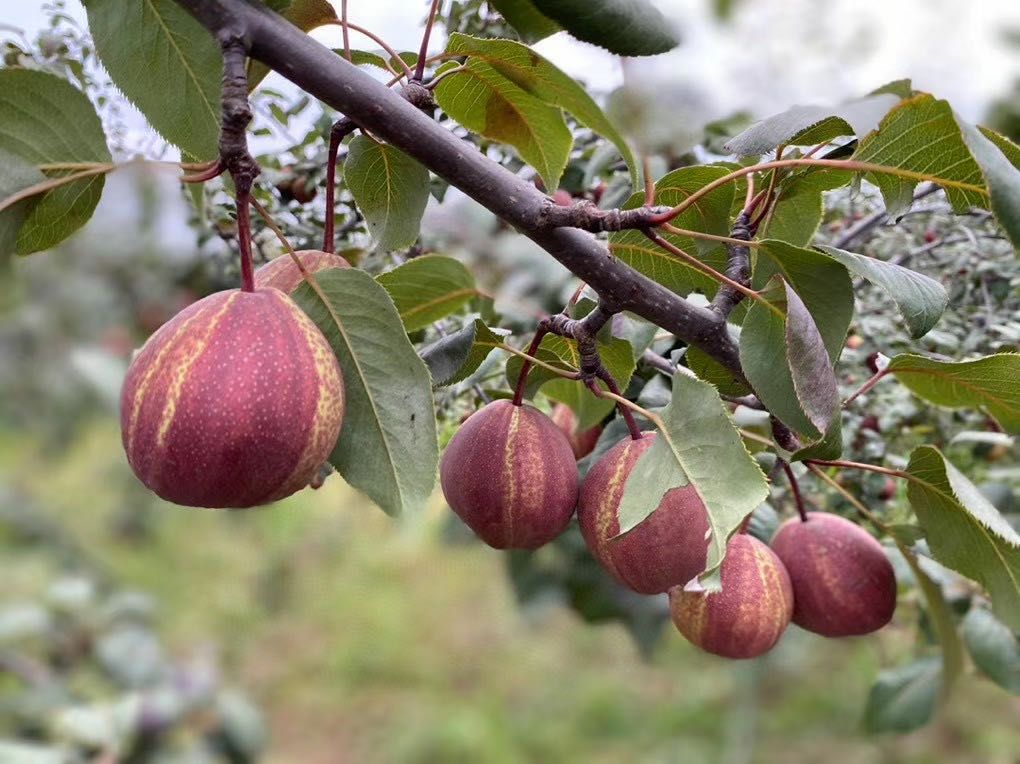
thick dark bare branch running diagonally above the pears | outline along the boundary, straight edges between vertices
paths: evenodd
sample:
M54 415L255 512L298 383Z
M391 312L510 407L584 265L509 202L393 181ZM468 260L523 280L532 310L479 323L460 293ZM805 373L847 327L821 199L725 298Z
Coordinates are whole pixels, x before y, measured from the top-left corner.
M544 222L548 198L287 22L247 0L176 0L206 29L243 30L249 55L420 161L536 242L614 308L629 310L740 373L725 321L617 260L591 234Z

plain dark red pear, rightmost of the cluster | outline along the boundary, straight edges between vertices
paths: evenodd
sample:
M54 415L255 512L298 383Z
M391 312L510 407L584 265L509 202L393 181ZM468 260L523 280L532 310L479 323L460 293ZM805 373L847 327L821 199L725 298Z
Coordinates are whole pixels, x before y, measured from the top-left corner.
M859 525L827 512L788 520L772 549L789 572L794 623L823 636L875 631L896 610L896 574L881 545Z

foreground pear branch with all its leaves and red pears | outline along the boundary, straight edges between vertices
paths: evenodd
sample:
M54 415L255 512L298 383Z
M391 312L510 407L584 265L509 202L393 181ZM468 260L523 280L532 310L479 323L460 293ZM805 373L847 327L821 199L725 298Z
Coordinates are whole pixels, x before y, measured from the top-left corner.
M522 597L530 577L592 620L671 617L719 656L760 656L790 622L870 633L909 601L916 655L879 677L873 729L924 723L968 652L1017 691L1020 536L944 451L960 430L1012 444L1020 355L900 344L875 348L869 375L847 363L870 317L861 294L882 291L908 341L953 309L952 274L855 245L938 200L944 219L1020 246L1016 144L900 81L662 146L627 124L623 97L604 111L529 47L562 30L665 52L678 38L648 0L432 0L414 52L346 0L339 14L323 0L84 4L92 44L56 56L67 65L24 53L0 69L0 255L70 236L122 166L82 66L95 56L180 149L170 168L236 252L234 288L159 327L124 381L128 461L158 496L253 507L336 471L400 515L439 482L507 550ZM307 34L321 26L339 28L336 49ZM270 70L302 94L293 111L262 88ZM286 125L310 99L332 117L286 158L258 155L253 109ZM421 234L450 189L565 267L569 298L529 325L501 316ZM861 195L879 209L820 227ZM958 412L956 431L888 446L889 386ZM885 446L869 452L869 432Z

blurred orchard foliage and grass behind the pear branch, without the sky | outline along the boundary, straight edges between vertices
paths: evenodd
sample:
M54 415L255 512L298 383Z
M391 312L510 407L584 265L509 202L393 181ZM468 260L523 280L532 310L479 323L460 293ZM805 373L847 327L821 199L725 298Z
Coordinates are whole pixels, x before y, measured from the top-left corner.
M742 7L715 5L723 15ZM96 69L84 31L59 3L50 16L38 37L10 38L7 65L83 84L120 159L161 156L158 141L140 143L124 126L125 105ZM448 24L506 33L477 0L453 3ZM991 112L1007 132L1015 103L1004 94L1005 108ZM260 199L296 246L314 246L325 214L315 193L321 136L333 115L271 88L255 106ZM659 168L706 156L747 120L677 124ZM575 135L564 188L617 204L628 191L623 173L586 131ZM511 153L481 148L521 169ZM920 348L962 359L1020 345L1020 266L984 215L951 217L937 194L898 225L875 209L867 188L829 195L820 241L873 220L853 249L909 262L950 289L950 310ZM341 249L369 270L423 251L463 260L495 298L478 310L495 309L517 332L558 310L575 286L455 192L404 253L365 251L346 192L337 214ZM978 680L974 666L931 725L899 736L862 731L878 671L931 639L906 570L896 620L879 634L825 641L792 627L772 654L732 663L665 628L663 601L611 584L573 530L554 549L507 556L470 540L438 494L423 516L395 522L338 478L244 513L152 497L120 448L120 377L148 334L236 282L233 235L221 186L185 194L173 172L140 164L110 177L82 234L16 262L0 284L0 761L1017 760L1020 700ZM257 244L263 259L279 251L267 231ZM875 353L919 347L886 295L864 287L858 296L842 364L847 392L870 374ZM655 374L641 367L631 393L654 401ZM490 363L441 391L444 438L478 391L501 387L502 364ZM844 429L848 457L864 461L895 463L934 443L1011 521L1020 517L1016 446L979 414L931 409L886 383L852 407ZM887 516L907 516L902 489L881 476L840 479ZM804 486L812 503L850 513L815 482ZM792 512L781 488L773 498L755 532ZM952 604L970 606L960 579L927 572Z

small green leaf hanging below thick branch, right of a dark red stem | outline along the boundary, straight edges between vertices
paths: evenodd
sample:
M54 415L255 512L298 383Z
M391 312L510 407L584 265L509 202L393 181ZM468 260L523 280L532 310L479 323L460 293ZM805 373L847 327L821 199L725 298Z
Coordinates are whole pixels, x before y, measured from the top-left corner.
M414 244L428 204L427 169L400 149L356 136L344 161L344 182L379 249Z

